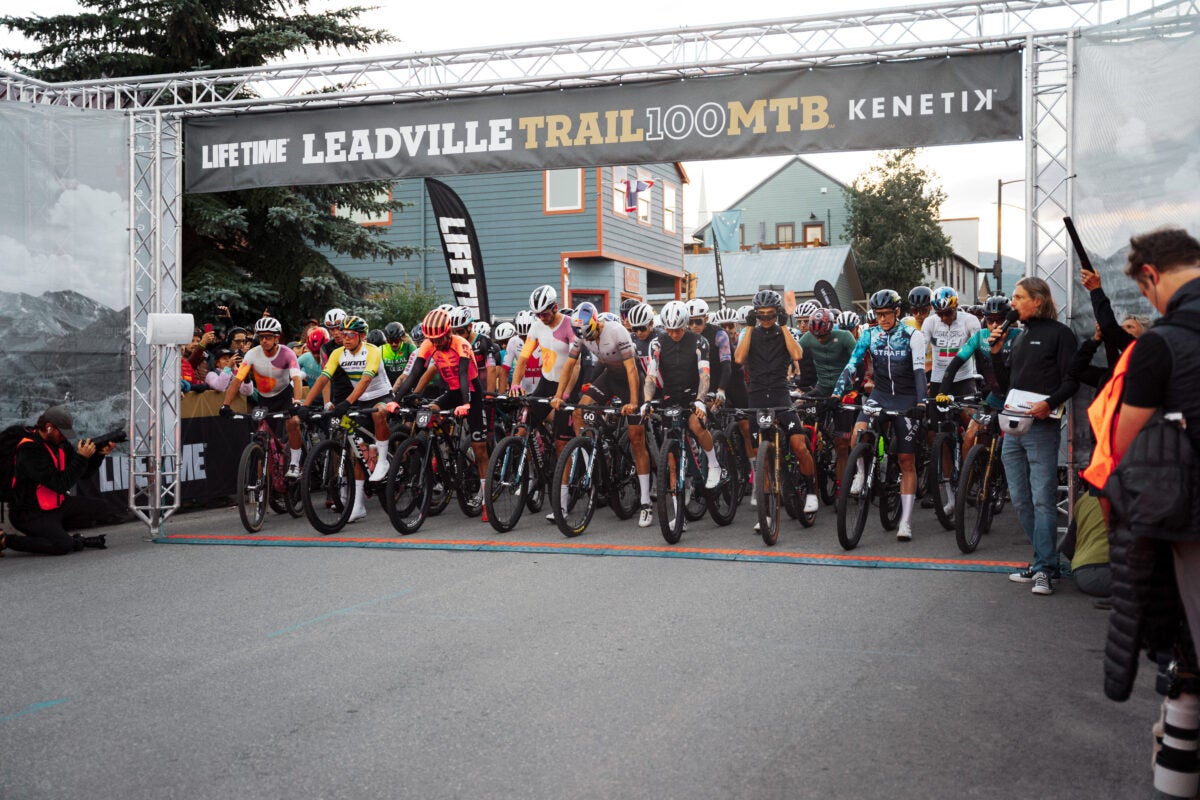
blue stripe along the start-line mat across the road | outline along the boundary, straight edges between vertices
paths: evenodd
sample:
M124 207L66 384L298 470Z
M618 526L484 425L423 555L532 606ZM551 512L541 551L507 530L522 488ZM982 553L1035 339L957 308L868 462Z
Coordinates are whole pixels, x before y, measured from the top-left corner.
M408 542L403 540L396 541L364 541L364 540L337 540L337 539L288 539L288 540L271 540L271 539L242 539L242 537L230 537L230 539L217 539L217 537L204 537L204 539L190 539L187 536L166 536L154 540L157 543L164 545L232 545L232 546L254 546L254 547L378 547L384 549L408 549L408 551L475 551L484 553L553 553L562 555L617 555L617 557L642 557L642 558L683 558L683 559L701 559L708 561L750 561L760 564L796 564L796 565L810 565L810 566L848 566L848 567L868 567L868 569L892 569L892 570L935 570L935 571L950 571L950 572L1010 572L1013 570L1012 565L1008 564L973 564L970 561L961 560L947 560L947 561L919 561L919 560L881 560L872 559L870 557L853 558L847 555L836 557L822 557L820 554L799 554L799 553L750 553L750 552L698 552L689 549L672 551L667 548L661 549L629 549L622 548L619 546L605 547L596 546L589 547L587 549L581 549L580 547L556 547L554 545L545 546L522 546L522 545L499 545L499 543L457 543L454 541L445 542Z

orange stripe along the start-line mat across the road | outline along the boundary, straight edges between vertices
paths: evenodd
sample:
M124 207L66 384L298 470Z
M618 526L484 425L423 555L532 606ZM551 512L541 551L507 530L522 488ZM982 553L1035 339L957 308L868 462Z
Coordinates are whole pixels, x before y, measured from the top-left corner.
M940 559L940 558L914 558L914 557L888 557L888 555L870 555L860 554L852 555L848 553L800 553L796 551L780 551L780 549L744 549L744 548L715 548L715 547L672 547L667 545L605 545L600 542L529 542L529 541L517 541L510 539L409 539L409 537L384 537L384 536L242 536L242 535L220 535L220 534L169 534L163 536L164 540L203 540L203 541L263 541L263 542L304 542L304 543L317 543L328 542L330 545L336 542L344 542L347 545L362 543L362 545L404 545L404 546L452 546L460 548L472 548L472 547L496 547L496 548L527 548L527 549L553 549L562 552L566 551L624 551L634 553L678 553L683 554L696 554L696 555L726 555L726 557L775 557L775 558L794 558L794 559L817 559L824 561L878 561L883 564L931 564L931 565L946 565L946 566L976 566L976 567L1006 567L1006 569L1022 569L1026 564L1020 561L990 561L980 559Z

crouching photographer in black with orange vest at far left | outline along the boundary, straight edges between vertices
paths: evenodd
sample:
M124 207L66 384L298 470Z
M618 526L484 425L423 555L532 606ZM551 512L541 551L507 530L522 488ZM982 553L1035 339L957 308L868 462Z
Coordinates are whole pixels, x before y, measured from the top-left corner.
M70 411L55 405L37 419L17 443L12 479L11 522L20 534L0 533L5 546L24 553L66 555L84 547L104 548L104 536L79 536L67 529L90 528L112 513L98 498L68 494L83 477L100 467L104 456L125 439L124 432L97 441L76 441Z

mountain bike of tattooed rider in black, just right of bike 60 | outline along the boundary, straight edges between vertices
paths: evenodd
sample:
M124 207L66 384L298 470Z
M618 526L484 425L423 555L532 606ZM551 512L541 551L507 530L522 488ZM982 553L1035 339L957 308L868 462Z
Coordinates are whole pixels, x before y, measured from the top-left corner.
M689 427L692 414L690 405L661 408L659 401L650 403L660 408L656 416L665 432L659 445L659 494L658 512L662 539L674 545L683 536L684 518L688 517L688 495L703 495L704 507L718 525L728 525L738 511L739 493L733 465L733 451L725 432L712 431L713 452L721 468L721 482L715 488L706 488L708 456L700 446L696 434Z

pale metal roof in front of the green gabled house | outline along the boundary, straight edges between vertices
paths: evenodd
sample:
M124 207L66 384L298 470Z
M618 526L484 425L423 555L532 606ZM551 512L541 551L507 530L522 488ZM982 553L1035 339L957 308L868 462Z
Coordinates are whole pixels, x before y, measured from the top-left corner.
M697 296L716 296L716 263L712 253L684 255L683 266L696 273ZM722 253L721 270L725 294L732 297L752 295L760 285L784 285L788 291L808 295L817 281L828 281L839 296L850 294L844 302L863 296L850 245Z

